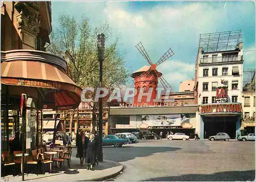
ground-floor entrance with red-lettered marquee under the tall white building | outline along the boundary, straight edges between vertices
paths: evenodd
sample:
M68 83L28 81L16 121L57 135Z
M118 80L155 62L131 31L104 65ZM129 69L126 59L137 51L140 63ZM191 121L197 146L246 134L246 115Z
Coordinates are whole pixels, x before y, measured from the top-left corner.
M241 103L209 103L200 106L200 138L208 138L220 132L231 139L240 134ZM241 134L240 134L241 135Z

